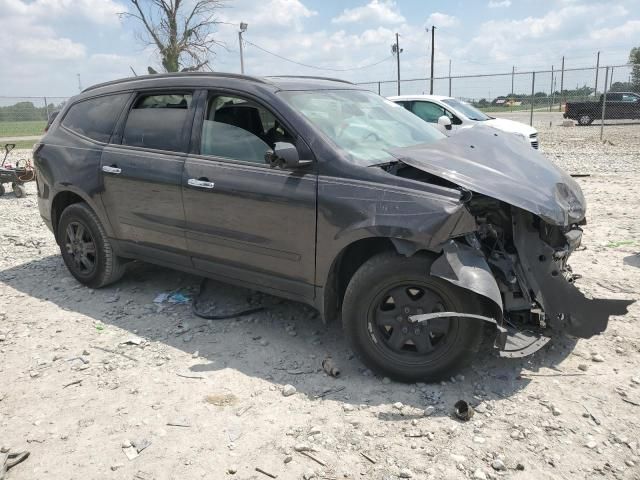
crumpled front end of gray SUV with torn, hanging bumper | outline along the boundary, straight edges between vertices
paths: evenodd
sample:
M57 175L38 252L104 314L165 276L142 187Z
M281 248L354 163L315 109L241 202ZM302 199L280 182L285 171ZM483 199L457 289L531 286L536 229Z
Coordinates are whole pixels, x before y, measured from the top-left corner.
M582 219L552 225L482 195L468 208L477 231L443 244L430 274L493 306L473 318L496 325L501 356L529 355L555 334L589 338L607 328L610 316L627 313L633 301L587 298L574 283L568 260L581 244Z

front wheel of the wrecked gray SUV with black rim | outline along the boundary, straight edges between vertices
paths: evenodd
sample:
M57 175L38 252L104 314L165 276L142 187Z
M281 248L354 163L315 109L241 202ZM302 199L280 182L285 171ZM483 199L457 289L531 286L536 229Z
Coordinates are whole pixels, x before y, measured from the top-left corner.
M481 321L409 321L421 313L482 313L474 294L429 275L432 262L426 255L383 253L351 278L342 307L345 333L372 370L400 381L436 381L450 377L477 351Z

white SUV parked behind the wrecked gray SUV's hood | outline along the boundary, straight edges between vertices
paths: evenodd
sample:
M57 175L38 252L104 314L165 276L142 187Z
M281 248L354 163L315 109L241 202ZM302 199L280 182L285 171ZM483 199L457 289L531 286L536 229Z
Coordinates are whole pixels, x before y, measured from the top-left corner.
M401 95L389 97L389 100L402 105L425 122L434 123L445 135L449 136L462 128L482 123L503 132L523 137L533 148L538 148L538 131L505 118L494 118L481 112L473 105L441 95ZM444 117L444 118L443 118Z

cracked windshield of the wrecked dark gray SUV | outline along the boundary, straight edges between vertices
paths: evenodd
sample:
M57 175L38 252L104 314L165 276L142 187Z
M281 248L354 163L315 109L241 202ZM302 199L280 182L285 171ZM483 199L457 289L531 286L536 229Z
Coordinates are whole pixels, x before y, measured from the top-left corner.
M360 165L394 160L389 149L445 138L400 105L373 92L320 90L280 94Z

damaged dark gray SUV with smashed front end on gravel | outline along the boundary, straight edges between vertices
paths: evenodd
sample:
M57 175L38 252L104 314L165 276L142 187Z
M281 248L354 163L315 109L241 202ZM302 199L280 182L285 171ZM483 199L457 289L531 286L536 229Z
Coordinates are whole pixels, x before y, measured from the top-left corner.
M425 381L485 329L523 356L602 332L630 303L575 287L582 192L511 137L446 138L338 80L167 74L74 97L34 160L79 282L141 260L305 302L372 369Z

